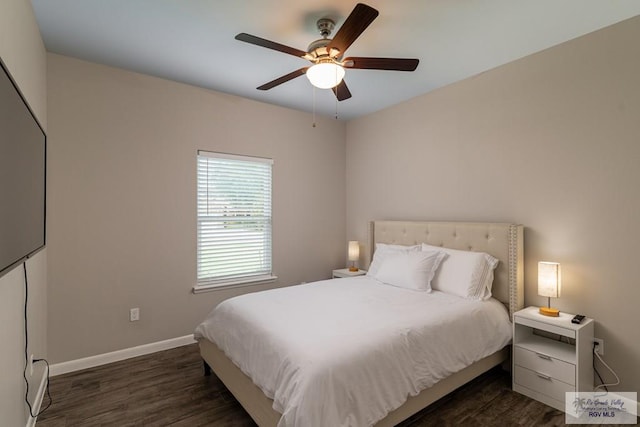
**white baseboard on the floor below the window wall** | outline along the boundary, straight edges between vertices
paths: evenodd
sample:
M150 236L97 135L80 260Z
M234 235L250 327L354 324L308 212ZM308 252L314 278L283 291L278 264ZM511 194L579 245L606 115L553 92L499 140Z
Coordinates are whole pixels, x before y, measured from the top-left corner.
M139 345L137 347L125 348L123 350L112 351L110 353L97 354L95 356L70 360L68 362L54 363L51 365L51 376L55 377L56 375L106 365L107 363L118 362L120 360L130 359L136 356L143 356L145 354L182 347L196 342L197 341L193 338L193 335L185 335L183 337L171 338L164 341Z

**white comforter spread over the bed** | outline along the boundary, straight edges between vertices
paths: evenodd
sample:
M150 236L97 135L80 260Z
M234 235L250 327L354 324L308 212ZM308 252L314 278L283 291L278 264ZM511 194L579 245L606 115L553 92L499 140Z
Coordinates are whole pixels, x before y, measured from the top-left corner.
M366 276L224 301L196 339L273 399L284 426L370 426L511 340L505 307Z

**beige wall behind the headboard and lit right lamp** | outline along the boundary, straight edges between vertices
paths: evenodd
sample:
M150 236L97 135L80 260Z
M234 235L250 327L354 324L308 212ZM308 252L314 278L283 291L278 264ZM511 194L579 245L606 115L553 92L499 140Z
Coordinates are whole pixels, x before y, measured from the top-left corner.
M553 303L596 319L619 391L640 391L638 40L640 17L347 125L349 239L371 219L524 224L526 304L546 302L537 262L562 263Z

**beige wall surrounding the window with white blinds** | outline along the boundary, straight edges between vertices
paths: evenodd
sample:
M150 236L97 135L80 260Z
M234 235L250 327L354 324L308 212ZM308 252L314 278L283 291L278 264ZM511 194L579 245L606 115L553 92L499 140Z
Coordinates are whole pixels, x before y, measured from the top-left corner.
M274 159L283 286L344 264L345 125L69 57L48 57L49 350L61 362L191 334L196 151ZM128 321L139 307L139 322Z

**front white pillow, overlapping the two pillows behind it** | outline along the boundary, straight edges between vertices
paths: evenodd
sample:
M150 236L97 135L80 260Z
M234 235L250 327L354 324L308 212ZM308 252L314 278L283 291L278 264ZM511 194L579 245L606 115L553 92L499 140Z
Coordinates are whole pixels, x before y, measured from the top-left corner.
M431 279L444 257L441 251L391 252L374 278L387 285L431 292Z

